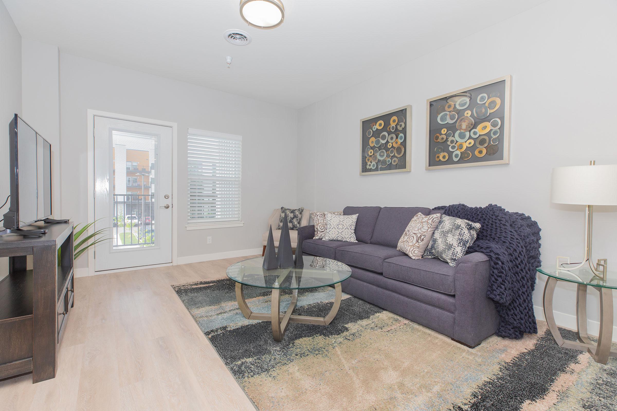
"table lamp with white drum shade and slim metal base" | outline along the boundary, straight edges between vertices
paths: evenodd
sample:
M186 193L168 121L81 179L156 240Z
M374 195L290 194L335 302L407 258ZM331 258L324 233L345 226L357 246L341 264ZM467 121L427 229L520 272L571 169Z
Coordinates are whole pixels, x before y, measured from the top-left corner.
M594 205L617 205L617 165L570 166L553 168L550 200L560 204L579 204L585 211L585 253L583 261L575 267L561 267L571 263L569 257L557 257L557 269L572 271L585 264L594 275L607 279L607 259L598 259L594 265L591 258ZM565 259L566 262L560 262Z

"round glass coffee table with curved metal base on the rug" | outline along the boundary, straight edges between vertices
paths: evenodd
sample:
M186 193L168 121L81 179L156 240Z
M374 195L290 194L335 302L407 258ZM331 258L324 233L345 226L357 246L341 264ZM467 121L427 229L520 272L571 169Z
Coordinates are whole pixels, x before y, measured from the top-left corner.
M275 341L282 341L290 322L304 324L328 325L334 319L341 306L341 282L351 275L351 269L342 262L323 257L304 256L304 266L263 269L263 257L250 258L236 262L227 268L227 277L236 282L236 299L238 307L249 320L272 322L272 336ZM244 300L242 287L270 288L272 290L271 312L252 312ZM306 288L327 287L334 285L336 297L334 305L325 317L294 315L298 299L298 290ZM292 290L291 303L286 312L280 312L281 290Z

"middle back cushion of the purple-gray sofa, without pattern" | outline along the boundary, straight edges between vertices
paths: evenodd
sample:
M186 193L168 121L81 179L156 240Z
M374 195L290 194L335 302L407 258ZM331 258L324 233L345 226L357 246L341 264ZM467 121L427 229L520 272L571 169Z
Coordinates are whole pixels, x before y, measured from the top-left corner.
M426 207L383 207L375 222L371 244L396 248L400 236L407 228L407 224L418 213L428 216L431 209Z

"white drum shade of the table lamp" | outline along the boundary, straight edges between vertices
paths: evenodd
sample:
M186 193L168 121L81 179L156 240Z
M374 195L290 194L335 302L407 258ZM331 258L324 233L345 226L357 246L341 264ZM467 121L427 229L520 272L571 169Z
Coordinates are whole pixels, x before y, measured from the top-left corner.
M617 205L617 165L553 168L550 200L560 204Z

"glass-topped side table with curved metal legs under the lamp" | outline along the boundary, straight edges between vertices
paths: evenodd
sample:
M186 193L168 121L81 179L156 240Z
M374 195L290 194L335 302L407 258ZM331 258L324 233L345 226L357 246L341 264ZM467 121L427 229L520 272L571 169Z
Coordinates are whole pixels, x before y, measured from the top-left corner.
M555 266L545 266L537 269L549 279L544 286L544 317L549 330L558 346L579 349L589 352L590 356L600 364L607 364L608 357L617 357L617 350L611 349L613 342L613 289L617 288L617 273L608 272L607 279L596 277L589 268L581 267L573 271L560 270ZM578 341L567 341L555 324L553 314L553 294L558 281L576 284L576 327ZM600 335L598 344L592 343L587 335L587 286L595 288L600 293Z

